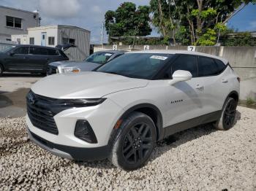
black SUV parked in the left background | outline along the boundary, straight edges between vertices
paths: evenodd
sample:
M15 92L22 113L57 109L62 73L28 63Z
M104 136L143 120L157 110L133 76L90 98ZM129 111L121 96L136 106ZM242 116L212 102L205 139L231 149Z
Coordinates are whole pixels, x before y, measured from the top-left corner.
M62 50L35 45L7 47L0 52L0 75L4 71L46 74L49 63L69 60Z

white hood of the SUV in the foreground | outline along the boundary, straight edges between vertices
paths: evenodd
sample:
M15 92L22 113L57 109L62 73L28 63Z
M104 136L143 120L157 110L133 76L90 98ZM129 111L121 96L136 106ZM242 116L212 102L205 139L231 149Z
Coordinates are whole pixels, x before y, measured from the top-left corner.
M50 98L101 98L122 90L146 87L148 80L97 71L56 74L40 79L31 90Z

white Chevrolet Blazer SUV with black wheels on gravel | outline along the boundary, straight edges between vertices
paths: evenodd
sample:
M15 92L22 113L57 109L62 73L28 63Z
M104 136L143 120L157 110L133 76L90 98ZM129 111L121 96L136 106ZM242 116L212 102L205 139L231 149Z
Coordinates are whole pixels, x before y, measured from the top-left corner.
M156 141L232 127L239 78L227 61L180 50L127 52L97 71L55 74L27 95L30 139L54 155L140 168Z

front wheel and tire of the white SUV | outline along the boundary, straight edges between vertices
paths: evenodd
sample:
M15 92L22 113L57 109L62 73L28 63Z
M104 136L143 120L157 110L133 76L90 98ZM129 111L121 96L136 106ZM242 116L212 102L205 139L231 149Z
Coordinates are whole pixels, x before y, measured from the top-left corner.
M109 160L126 171L143 166L156 143L156 127L148 115L132 112L121 124Z

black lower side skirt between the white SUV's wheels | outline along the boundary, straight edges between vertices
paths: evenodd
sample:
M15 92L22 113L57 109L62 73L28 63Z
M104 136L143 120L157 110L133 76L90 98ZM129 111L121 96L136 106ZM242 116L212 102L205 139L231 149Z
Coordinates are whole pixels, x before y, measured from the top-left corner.
M174 133L178 133L182 130L194 128L198 125L203 125L208 122L217 121L217 120L219 120L221 114L222 114L222 110L219 110L217 112L204 114L204 115L201 115L200 117L195 117L191 120L187 120L184 122L178 122L174 125L167 126L166 128L164 128L165 129L165 137L173 135Z

